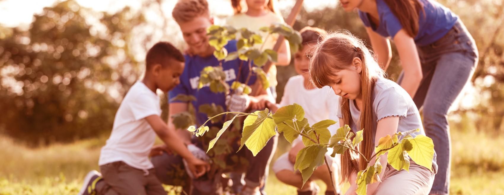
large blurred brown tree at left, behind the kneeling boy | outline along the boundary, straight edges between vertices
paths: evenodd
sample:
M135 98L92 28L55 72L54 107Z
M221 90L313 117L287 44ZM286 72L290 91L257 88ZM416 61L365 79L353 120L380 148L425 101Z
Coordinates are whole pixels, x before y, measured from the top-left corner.
M44 8L28 31L0 28L0 130L30 145L110 132L140 74L129 43L144 21L70 0Z

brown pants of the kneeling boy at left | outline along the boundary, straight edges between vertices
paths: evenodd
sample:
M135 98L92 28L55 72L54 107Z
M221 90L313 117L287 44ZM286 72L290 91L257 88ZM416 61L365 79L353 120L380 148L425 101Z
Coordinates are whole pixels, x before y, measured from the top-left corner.
M122 162L112 162L100 166L104 182L98 182L98 194L166 194L154 169L142 170Z

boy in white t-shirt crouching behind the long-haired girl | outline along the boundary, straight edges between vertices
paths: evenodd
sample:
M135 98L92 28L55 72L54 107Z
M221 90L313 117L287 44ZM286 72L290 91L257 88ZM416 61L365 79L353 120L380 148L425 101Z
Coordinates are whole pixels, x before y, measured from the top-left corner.
M326 31L319 28L305 27L301 31L303 48L294 55L294 66L299 75L290 77L285 85L282 101L279 105L266 103L267 107L272 111L280 107L292 105L294 103L300 105L304 109L304 117L308 119L308 123L313 125L319 121L331 119L338 121L336 110L338 109L339 96L335 95L332 89L328 86L317 88L309 81L308 67L310 60L310 49L317 44L321 35L325 35ZM259 105L263 106L263 105ZM332 135L336 133L338 125L332 125L328 129ZM326 194L334 194L334 189L331 182L331 177L326 164L319 166L308 180L302 186L302 177L299 171L294 171L294 163L296 155L304 148L301 136L292 142L292 148L289 152L281 155L273 164L273 171L278 180L293 185L298 188L298 194L318 194L319 187L312 182L312 179L322 179L327 184ZM332 150L326 153L328 162L333 171L333 178L338 183L339 177L339 156L331 157ZM339 189L336 189L339 191Z

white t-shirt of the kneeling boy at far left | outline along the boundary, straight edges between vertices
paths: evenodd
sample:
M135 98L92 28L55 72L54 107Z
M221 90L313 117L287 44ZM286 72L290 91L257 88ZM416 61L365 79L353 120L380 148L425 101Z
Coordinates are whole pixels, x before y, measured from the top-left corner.
M130 88L115 114L110 138L101 149L100 166L123 161L138 169L154 167L149 160L149 153L156 133L145 118L161 115L159 101L159 96L141 81Z

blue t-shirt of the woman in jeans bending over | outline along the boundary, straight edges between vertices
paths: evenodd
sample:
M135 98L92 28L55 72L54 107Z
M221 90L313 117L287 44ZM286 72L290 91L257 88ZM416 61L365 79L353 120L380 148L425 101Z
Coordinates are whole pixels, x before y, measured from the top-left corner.
M424 46L445 36L459 17L435 1L418 1L422 4L424 12L420 12L418 34L414 40L416 45ZM371 27L374 32L383 37L394 38L397 32L403 28L399 19L383 0L376 0L376 7L380 16L379 26L372 25L367 13L359 11L359 17L364 26Z

